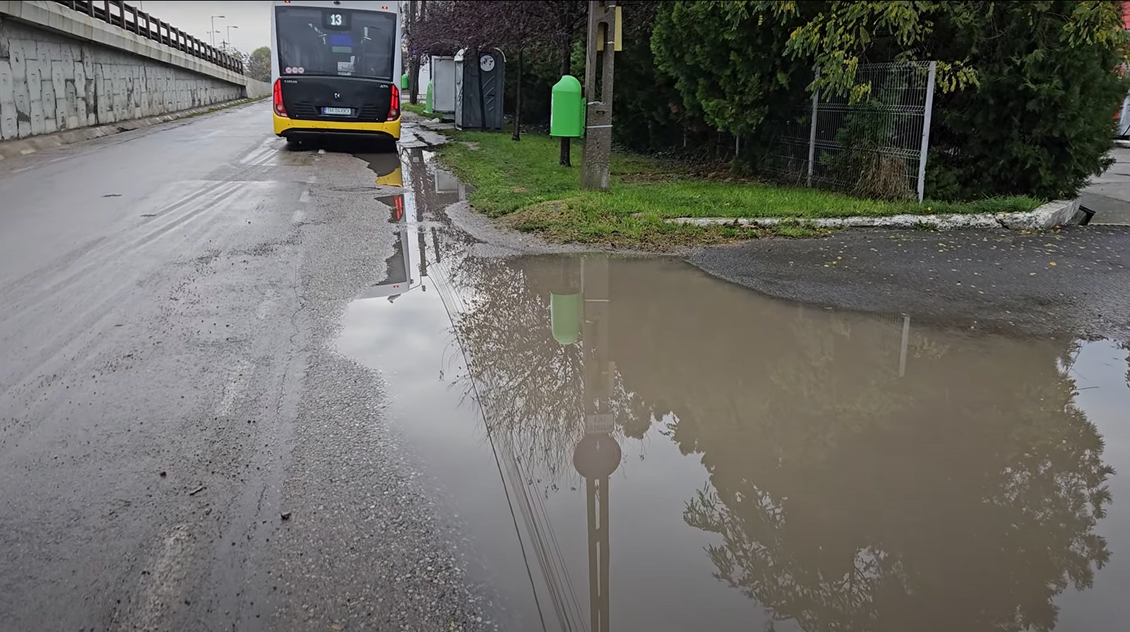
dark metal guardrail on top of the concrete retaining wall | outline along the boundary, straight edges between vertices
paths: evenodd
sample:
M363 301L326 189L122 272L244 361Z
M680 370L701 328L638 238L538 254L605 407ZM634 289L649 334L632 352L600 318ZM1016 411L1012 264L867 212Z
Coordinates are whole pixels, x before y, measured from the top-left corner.
M215 63L233 72L243 74L243 61L219 49L206 44L167 21L131 7L122 0L55 0L58 3L86 14L106 24L124 28L154 42L159 42L188 53L194 58Z

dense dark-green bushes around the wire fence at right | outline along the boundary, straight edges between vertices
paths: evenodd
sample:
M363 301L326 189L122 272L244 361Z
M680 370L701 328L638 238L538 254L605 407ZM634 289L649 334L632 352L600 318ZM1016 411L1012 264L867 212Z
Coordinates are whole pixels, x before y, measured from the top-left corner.
M937 61L935 199L1077 194L1110 165L1128 90L1121 3L1111 1L664 2L651 42L683 102L751 143L793 115L806 88L867 98L860 63ZM871 163L862 166L888 188L898 165Z

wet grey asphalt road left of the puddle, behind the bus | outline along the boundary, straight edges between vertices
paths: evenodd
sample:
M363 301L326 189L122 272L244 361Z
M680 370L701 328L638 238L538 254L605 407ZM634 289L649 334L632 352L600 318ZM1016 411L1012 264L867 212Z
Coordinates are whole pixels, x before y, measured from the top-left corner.
M476 629L381 385L325 344L384 273L374 175L269 123L0 164L0 627Z

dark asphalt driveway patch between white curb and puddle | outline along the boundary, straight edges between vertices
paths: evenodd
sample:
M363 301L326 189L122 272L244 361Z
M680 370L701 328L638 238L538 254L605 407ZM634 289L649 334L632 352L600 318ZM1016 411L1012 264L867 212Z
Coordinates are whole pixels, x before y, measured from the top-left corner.
M702 248L687 258L722 279L807 304L1010 333L1130 333L1128 227L844 231Z

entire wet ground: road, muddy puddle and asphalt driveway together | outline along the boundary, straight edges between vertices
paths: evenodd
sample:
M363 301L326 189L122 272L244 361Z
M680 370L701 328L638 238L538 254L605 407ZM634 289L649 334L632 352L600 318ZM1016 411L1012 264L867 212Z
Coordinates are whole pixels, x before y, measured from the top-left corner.
M267 113L0 166L0 630L1130 618L1122 232L693 254L794 302Z

